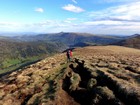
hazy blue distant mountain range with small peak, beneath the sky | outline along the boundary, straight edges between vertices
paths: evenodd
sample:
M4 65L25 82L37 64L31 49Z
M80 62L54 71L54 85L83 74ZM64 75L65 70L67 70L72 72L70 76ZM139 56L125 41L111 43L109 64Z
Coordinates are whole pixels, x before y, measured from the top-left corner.
M61 42L67 46L75 46L79 43L91 43L92 45L106 45L110 43L119 42L123 37L94 35L88 33L55 33L55 34L39 34L31 36L15 36L11 37L19 41L45 41L45 42Z

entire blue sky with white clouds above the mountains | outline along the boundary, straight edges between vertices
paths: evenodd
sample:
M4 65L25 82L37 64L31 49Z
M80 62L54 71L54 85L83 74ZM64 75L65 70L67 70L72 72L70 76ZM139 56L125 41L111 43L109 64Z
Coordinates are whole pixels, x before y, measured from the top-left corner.
M140 0L0 0L0 32L140 33Z

